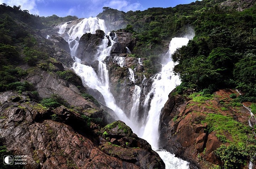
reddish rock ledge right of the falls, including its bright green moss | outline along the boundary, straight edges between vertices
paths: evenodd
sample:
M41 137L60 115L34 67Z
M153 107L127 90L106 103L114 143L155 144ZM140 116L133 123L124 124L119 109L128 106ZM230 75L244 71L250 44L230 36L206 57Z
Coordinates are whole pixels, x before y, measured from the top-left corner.
M188 90L181 95L174 90L169 94L160 116L160 145L193 167L223 166L214 151L220 145L241 142L241 135L249 137L250 112L230 98L230 94L239 96L232 89L219 90L213 95L191 93ZM254 126L255 121L251 123ZM249 160L242 164L245 168Z

